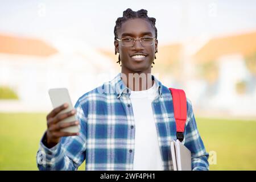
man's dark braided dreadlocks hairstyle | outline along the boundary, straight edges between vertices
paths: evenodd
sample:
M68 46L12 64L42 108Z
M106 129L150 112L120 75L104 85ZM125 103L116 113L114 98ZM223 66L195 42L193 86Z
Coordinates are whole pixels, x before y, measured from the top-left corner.
M117 32L118 32L119 28L122 27L122 23L126 22L129 19L134 19L134 18L143 18L143 19L148 20L148 22L150 22L151 26L155 29L155 38L158 37L158 30L155 27L156 19L148 17L147 10L141 9L138 11L133 11L129 8L129 9L123 11L123 16L117 18L117 20L115 21L115 27L114 27L114 35L115 35L114 39L115 40L117 40ZM158 52L158 51L156 50L156 52ZM115 55L117 55L117 51L115 51ZM155 57L155 59L156 59L156 57ZM119 64L121 63L120 55L118 56L117 63L119 63ZM153 61L153 64L155 64L154 61ZM121 65L120 65L120 67L121 67ZM152 68L152 66L151 66L151 68Z

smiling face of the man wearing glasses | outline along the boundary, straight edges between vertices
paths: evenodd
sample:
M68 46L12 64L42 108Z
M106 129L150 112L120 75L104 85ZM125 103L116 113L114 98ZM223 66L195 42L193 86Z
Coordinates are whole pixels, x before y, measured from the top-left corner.
M148 20L142 18L130 19L122 24L118 30L118 39L141 38L143 36L155 37L155 30ZM151 73L151 64L155 58L158 40L152 46L142 46L139 40L135 40L134 46L125 47L115 40L115 51L119 52L122 73ZM142 59L136 59L134 55L144 55Z

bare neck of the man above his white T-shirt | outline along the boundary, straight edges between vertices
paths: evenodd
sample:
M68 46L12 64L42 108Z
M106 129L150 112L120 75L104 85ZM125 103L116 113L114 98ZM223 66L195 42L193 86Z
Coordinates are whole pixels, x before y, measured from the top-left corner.
M151 88L151 86L154 84L151 71L133 73L127 73L122 71L121 78L127 88L133 91L147 90Z

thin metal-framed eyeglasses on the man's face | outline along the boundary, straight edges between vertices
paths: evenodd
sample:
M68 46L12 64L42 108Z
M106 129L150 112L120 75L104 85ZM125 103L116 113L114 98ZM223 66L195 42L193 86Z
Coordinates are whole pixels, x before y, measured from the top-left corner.
M135 40L139 40L142 46L152 46L154 44L155 38L151 36L143 36L142 38L135 39L135 38L122 38L118 39L122 43L122 46L134 46Z

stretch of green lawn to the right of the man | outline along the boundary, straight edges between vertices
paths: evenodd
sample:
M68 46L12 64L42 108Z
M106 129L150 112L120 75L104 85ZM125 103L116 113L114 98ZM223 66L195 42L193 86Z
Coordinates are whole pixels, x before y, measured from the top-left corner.
M216 151L210 170L256 170L256 121L197 119L207 151Z

